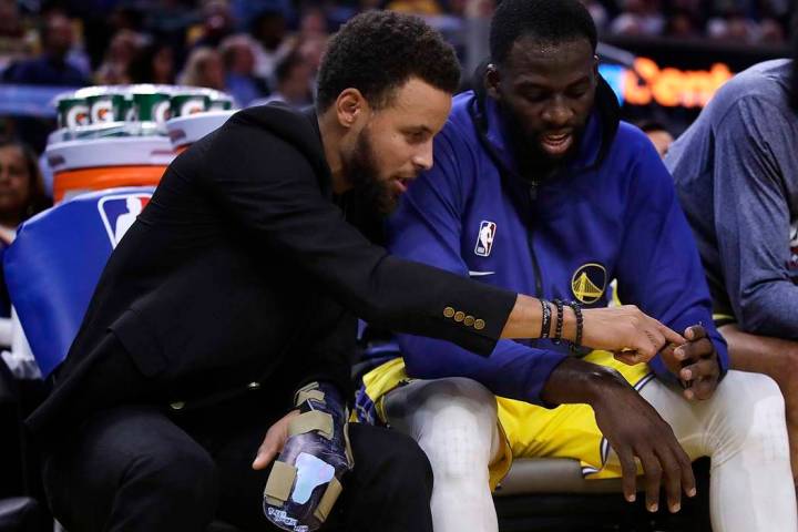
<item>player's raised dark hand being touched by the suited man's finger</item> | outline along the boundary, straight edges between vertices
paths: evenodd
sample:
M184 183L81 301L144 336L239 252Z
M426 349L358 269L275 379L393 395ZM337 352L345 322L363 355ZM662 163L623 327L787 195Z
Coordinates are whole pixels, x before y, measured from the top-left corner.
M682 381L686 399L709 399L720 379L715 346L700 325L687 327L684 336L686 344L663 351L665 365Z

